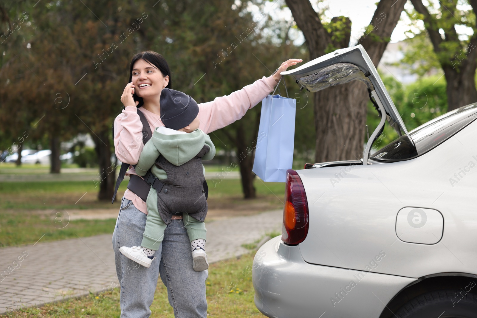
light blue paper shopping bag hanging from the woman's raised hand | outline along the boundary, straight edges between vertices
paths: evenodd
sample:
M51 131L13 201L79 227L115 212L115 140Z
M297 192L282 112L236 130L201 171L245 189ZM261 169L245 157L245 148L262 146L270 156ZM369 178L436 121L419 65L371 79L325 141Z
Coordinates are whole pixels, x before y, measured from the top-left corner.
M287 97L268 95L262 100L252 172L263 181L285 182L286 172L293 164L295 112L296 100L288 98L288 91Z

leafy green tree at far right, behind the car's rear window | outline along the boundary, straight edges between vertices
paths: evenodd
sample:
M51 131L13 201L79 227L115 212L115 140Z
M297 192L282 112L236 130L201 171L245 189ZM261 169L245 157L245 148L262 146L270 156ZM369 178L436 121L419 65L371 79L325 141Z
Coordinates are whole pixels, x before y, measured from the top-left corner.
M426 7L422 0L411 0L415 12L409 12L413 20L424 21L437 56L444 70L447 82L448 110L456 109L477 101L475 74L477 67L477 22L475 12L477 0L469 0L472 10L458 9L457 0L428 1ZM473 34L461 39L456 27L466 26Z

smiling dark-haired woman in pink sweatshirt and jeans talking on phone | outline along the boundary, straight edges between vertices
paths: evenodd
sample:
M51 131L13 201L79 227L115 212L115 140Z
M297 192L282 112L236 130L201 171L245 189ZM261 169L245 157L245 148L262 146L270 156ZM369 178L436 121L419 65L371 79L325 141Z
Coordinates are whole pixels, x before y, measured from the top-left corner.
M199 104L199 128L213 132L240 119L255 106L280 80L280 72L301 62L290 59L269 77L263 77L228 96L213 102ZM163 88L171 87L172 79L166 60L158 53L146 51L134 56L130 64L129 82L124 88L121 102L124 110L114 120L114 148L121 162L136 164L143 149L142 123L137 107L144 113L151 131L164 126L160 119L159 97ZM133 97L133 95L135 95ZM135 174L131 167L126 175ZM140 246L147 215L145 202L127 189L121 199L121 208L113 233L116 273L121 286L121 317L144 318L151 315L158 273L167 287L169 303L175 317L197 318L207 316L207 270L196 272L192 266L190 243L182 216L176 216L164 234L162 246L150 268L137 263L119 252L121 246Z

